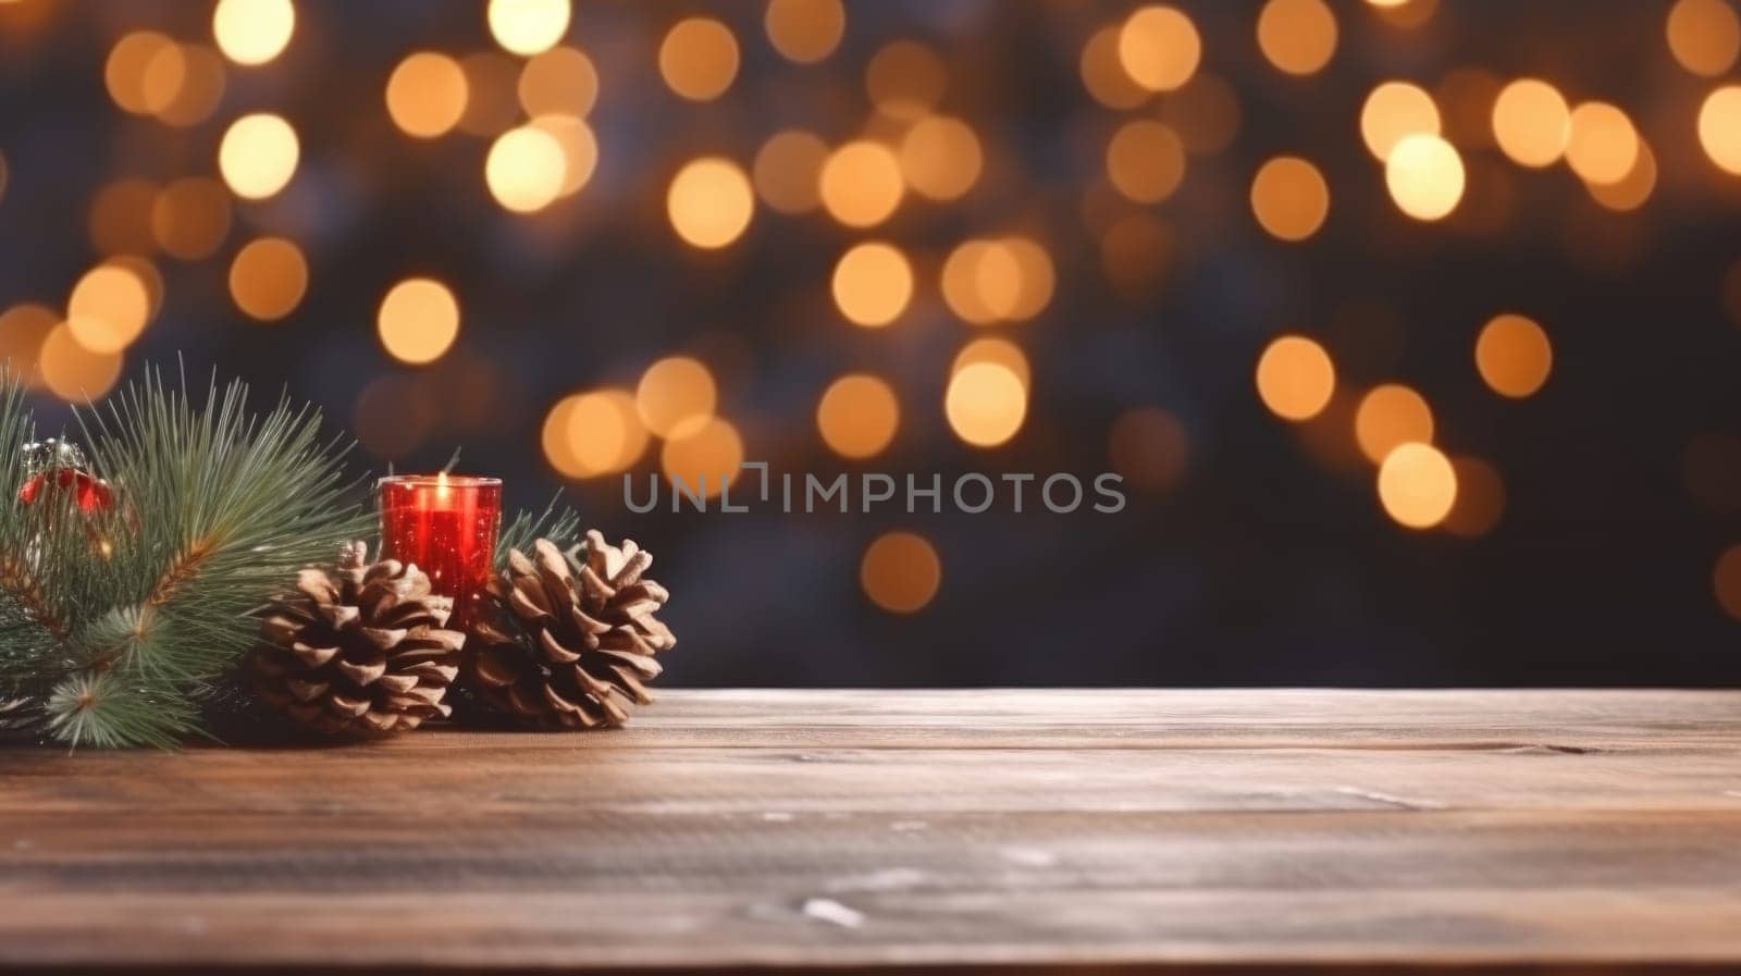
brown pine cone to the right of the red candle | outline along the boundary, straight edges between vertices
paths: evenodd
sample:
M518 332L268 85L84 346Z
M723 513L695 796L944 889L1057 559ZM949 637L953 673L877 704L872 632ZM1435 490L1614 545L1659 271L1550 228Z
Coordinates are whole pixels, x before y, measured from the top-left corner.
M622 725L648 705L655 654L677 644L653 614L670 593L644 579L653 555L597 531L561 552L538 539L533 557L508 552L489 581L491 614L472 628L470 679L491 705L547 729ZM493 619L491 619L493 618Z

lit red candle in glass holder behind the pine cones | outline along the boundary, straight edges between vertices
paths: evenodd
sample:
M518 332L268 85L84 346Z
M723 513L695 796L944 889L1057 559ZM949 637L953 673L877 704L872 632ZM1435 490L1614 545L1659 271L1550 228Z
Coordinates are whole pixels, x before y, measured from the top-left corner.
M501 480L463 475L381 478L381 558L413 562L453 597L451 630L472 623L494 571Z

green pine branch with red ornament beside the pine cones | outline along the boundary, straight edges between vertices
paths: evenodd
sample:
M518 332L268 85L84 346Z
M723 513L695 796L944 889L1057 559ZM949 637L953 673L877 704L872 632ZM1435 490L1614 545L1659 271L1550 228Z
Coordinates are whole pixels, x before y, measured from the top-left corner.
M0 452L19 496L0 505L0 727L172 746L254 644L251 611L367 518L319 414L251 411L239 383L200 404L146 371L75 419L84 451L37 442L0 374L0 444L31 444Z

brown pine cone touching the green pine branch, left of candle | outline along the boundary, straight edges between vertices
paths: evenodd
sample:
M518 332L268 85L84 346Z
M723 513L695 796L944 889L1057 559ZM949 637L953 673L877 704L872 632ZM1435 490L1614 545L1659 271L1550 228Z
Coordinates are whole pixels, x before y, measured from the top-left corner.
M336 734L416 729L446 717L465 635L442 630L453 598L416 565L369 565L352 543L331 572L305 569L272 605L254 654L256 691L298 722Z

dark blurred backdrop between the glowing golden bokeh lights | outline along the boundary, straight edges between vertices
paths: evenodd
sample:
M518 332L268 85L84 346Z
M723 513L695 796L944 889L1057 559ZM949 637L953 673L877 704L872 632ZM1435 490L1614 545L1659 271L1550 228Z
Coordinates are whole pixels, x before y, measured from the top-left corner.
M359 397L393 378L385 395L374 388L374 409L390 404L414 445L366 438L359 473L439 468L460 447L461 470L503 477L510 503L541 505L562 487L540 449L545 411L575 390L632 388L672 353L714 369L749 458L787 471L867 470L830 454L813 421L848 371L900 393L900 433L872 463L893 473L1086 480L1111 470L1121 412L1158 405L1184 424L1184 477L1133 491L1118 515L632 515L616 478L568 484L588 522L658 555L682 640L672 684L1741 679L1741 623L1713 598L1718 553L1741 539L1741 329L1722 297L1741 256L1741 177L1699 150L1692 118L1722 80L1673 61L1666 3L1442 0L1419 26L1334 3L1341 43L1309 78L1264 61L1257 3L1182 3L1203 35L1201 70L1233 85L1241 124L1153 207L1109 190L1102 153L1123 118L1156 113L1166 96L1116 111L1078 75L1083 42L1130 3L851 2L841 47L813 66L770 47L761 3L585 3L568 42L601 75L599 170L536 217L486 193L487 137L413 141L383 106L411 50L494 47L479 3L303 0L291 47L263 68L226 66L221 104L190 129L122 113L103 63L138 28L211 43L209 5L17 7L37 9L0 7L0 308L61 304L101 259L87 212L103 184L214 174L230 118L282 113L301 137L294 181L265 204L239 202L212 257L153 257L165 301L125 374L179 355L190 376L216 367L315 400L334 430L367 428ZM693 12L726 21L743 59L705 104L670 94L655 66L663 31ZM931 45L951 68L938 108L968 120L987 157L968 197L904 204L867 233L759 205L721 252L672 233L663 193L682 162L728 155L749 169L790 125L851 137L872 111L864 66L897 38ZM1614 214L1563 165L1523 170L1469 144L1457 216L1403 217L1360 143L1361 99L1388 78L1433 89L1466 66L1621 104L1659 162L1649 204ZM1281 151L1330 183L1328 221L1299 245L1267 237L1247 204L1252 172ZM1104 271L1107 209L1154 216L1172 242L1135 284ZM1046 244L1059 284L1036 320L998 327L1032 362L1029 418L1012 444L977 451L940 404L952 355L989 331L949 313L937 266L959 240L1012 228ZM273 325L244 318L225 285L237 247L265 231L296 238L310 263L306 297ZM865 237L900 242L919 268L914 306L881 331L846 324L829 299L834 259ZM463 306L458 344L423 369L397 364L374 334L381 294L411 273L439 277ZM1548 384L1520 402L1489 391L1471 364L1476 331L1506 310L1553 339ZM1501 471L1497 527L1403 529L1379 506L1368 465L1327 461L1307 431L1269 414L1252 369L1280 332L1318 336L1346 391L1388 379L1422 391L1436 440ZM40 405L61 416L50 397ZM656 470L655 447L635 471ZM888 529L923 534L942 560L935 600L911 616L879 611L858 583L865 546Z

